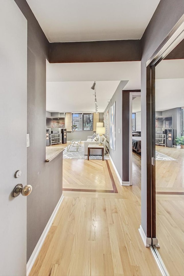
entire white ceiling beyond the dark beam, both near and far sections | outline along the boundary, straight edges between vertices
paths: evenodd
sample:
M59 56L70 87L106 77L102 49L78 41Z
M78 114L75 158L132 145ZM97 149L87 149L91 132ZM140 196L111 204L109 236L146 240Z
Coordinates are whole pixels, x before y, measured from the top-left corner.
M104 112L120 81L124 89L141 89L141 62L65 63L47 62L47 111Z

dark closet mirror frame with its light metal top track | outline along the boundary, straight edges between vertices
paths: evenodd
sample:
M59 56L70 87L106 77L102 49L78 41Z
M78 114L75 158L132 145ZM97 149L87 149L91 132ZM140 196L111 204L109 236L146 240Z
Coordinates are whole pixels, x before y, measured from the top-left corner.
M152 245L156 238L156 172L155 172L155 66L184 39L184 16L160 44L146 65L146 142L147 142L147 237Z

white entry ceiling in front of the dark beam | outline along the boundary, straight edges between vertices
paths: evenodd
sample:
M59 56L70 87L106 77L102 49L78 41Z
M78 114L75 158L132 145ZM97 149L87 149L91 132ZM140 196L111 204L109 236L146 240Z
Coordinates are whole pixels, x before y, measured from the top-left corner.
M160 0L26 0L50 42L141 39Z

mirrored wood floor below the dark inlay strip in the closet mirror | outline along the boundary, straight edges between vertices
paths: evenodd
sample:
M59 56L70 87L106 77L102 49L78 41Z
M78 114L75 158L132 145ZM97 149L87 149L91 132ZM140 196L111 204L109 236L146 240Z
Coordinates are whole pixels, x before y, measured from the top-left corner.
M184 275L184 196L156 195L158 252L170 276Z

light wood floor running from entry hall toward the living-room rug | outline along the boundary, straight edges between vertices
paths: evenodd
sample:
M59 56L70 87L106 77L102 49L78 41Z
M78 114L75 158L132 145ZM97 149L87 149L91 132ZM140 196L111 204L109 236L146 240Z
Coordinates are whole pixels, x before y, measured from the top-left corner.
M96 177L93 160L63 162L64 185L68 185L70 174L78 172L79 163L87 166L89 173L89 180L77 174L80 185L87 187ZM104 161L97 162L99 167L106 165ZM122 187L110 160L108 164L118 193L64 191L64 199L30 276L161 275L138 231L140 185ZM108 177L109 174L104 175L105 179Z

